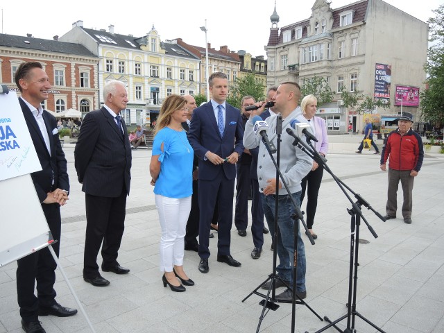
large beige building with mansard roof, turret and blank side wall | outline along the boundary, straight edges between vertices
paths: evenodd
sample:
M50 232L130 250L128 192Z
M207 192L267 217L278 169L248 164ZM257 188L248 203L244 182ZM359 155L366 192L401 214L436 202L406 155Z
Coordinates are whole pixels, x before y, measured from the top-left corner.
M278 28L276 7L270 19L268 87L287 80L304 85L309 78L323 77L334 92L345 87L390 101L387 110L369 112L391 114L401 111L405 87L425 89L429 26L382 0L341 8L316 0L307 19ZM418 104L404 103L403 110L418 120ZM338 93L333 103L318 105L318 115L332 134L346 133L350 121L356 131L363 128L362 117L353 109L345 110Z

